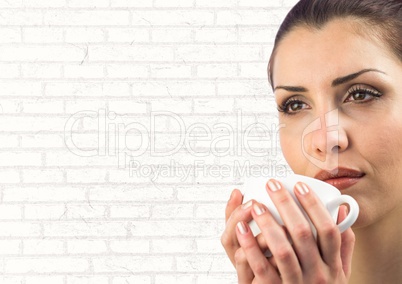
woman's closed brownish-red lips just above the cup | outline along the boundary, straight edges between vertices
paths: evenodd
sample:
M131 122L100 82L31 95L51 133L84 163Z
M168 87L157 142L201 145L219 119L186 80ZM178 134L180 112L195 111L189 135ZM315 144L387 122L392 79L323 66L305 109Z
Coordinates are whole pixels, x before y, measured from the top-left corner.
M320 171L314 178L335 186L339 190L347 189L357 183L365 174L348 168L336 168L331 171Z

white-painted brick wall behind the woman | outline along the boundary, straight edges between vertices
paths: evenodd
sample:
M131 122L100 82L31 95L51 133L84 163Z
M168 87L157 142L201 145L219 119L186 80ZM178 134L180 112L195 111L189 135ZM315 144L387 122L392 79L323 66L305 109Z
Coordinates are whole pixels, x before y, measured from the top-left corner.
M224 207L239 167L286 169L266 65L295 2L0 0L0 282L235 283Z

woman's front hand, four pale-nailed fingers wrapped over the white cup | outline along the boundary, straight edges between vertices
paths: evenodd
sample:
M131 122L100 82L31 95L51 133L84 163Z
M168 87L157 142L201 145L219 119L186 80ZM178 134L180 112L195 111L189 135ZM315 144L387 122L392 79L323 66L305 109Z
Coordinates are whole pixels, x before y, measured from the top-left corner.
M248 209L263 238L257 240L253 237L247 220L237 223L236 235L240 247L235 252L234 264L239 283L347 283L354 248L352 230L349 228L340 234L314 192L305 184L298 183L295 195L317 228L315 240L307 219L289 192L275 180L270 180L267 185L268 194L293 244L268 209L253 202ZM346 207L342 206L338 222L346 215ZM266 241L265 245L260 244L262 240ZM269 260L264 256L264 247L268 247L273 255Z

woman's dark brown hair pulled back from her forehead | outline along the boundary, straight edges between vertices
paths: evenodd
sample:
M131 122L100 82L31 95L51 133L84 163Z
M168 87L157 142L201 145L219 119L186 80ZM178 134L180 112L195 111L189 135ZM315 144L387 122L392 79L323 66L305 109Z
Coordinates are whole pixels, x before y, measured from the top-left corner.
M272 87L272 64L280 41L296 27L321 29L339 18L361 23L360 32L382 40L402 61L402 0L301 0L287 14L276 35L268 63Z

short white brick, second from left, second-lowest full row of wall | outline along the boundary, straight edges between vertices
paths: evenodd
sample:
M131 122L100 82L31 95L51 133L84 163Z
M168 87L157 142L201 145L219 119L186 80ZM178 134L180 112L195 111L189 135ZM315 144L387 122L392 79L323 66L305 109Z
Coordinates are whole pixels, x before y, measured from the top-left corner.
M63 254L64 241L62 240L23 240L23 254Z

